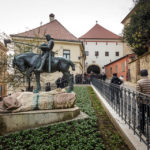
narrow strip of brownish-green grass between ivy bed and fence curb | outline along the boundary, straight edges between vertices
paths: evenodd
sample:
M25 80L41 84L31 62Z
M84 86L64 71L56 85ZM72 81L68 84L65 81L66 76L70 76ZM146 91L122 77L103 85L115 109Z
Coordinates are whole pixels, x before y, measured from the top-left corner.
M97 98L97 95L93 92L91 87L88 87L88 91L93 103L93 107L96 111L96 114L99 118L99 130L101 131L101 136L105 143L107 150L119 150L119 149L128 149L127 145L114 128L110 119L108 118L103 106L100 103L100 100Z

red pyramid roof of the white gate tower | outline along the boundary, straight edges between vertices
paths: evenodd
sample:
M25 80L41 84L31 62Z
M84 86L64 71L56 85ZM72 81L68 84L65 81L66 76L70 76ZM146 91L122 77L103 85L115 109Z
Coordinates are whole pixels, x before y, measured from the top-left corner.
M79 39L120 39L121 37L96 24L86 34Z

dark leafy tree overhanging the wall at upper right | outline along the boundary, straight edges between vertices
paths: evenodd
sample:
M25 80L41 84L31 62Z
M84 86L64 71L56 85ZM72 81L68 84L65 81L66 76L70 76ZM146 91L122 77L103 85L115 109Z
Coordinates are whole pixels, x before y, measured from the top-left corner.
M124 29L124 39L138 56L150 47L150 3L149 0L134 0L135 11Z

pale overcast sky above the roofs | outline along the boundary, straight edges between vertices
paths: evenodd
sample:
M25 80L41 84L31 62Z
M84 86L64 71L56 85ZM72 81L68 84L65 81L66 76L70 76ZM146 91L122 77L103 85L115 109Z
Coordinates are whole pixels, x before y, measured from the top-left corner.
M76 37L95 24L120 34L121 21L133 8L133 0L0 0L0 32L16 34L49 22L49 14Z

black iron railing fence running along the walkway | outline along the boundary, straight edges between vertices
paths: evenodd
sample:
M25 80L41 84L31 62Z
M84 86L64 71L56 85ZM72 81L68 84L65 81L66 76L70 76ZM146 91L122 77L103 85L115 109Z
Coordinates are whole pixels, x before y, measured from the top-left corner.
M92 79L92 84L149 150L150 97L95 78Z

